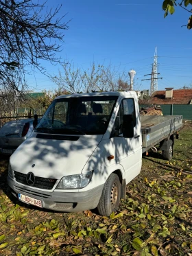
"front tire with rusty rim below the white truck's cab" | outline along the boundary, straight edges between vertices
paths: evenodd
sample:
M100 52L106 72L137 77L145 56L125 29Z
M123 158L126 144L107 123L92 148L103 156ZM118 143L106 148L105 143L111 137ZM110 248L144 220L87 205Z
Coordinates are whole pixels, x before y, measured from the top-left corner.
M117 174L110 174L97 205L101 216L110 216L112 211L117 211L120 203L121 183Z

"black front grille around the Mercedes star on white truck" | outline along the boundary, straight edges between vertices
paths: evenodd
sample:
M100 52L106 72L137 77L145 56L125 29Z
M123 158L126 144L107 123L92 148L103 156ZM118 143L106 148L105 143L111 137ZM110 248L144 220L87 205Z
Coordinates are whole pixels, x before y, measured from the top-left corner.
M14 178L16 179L17 182L27 185L26 181L27 174L22 174L21 172L16 172L14 171ZM56 184L56 179L55 178L42 178L42 177L35 177L35 183L31 187L37 187L38 189L52 189L53 186Z

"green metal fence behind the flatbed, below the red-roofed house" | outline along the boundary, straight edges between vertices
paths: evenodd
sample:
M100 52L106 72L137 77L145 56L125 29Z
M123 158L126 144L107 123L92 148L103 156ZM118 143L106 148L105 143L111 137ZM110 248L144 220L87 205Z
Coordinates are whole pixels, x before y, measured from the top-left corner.
M145 107L147 105L140 105L139 107ZM184 120L192 120L192 105L182 104L170 104L160 105L163 110L163 115L182 115Z

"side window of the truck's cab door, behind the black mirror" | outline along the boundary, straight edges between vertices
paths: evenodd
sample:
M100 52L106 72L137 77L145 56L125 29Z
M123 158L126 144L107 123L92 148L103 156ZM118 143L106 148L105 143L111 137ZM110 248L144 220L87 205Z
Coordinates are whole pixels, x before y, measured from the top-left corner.
M123 115L132 115L134 126L136 125L134 99L122 100L110 137L115 137L122 134Z

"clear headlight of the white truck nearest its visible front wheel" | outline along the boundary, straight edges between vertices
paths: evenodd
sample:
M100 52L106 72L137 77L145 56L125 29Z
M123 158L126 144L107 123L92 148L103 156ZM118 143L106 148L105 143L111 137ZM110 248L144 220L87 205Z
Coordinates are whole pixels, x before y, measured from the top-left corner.
M90 183L93 176L93 171L86 172L85 174L64 176L56 189L82 189Z

